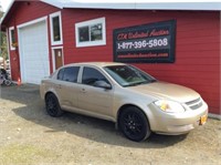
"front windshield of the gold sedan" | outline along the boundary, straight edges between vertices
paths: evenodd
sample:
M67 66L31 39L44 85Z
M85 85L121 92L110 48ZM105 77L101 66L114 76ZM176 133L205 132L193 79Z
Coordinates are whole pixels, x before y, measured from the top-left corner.
M122 86L135 86L156 82L151 75L131 65L110 65L104 70Z

